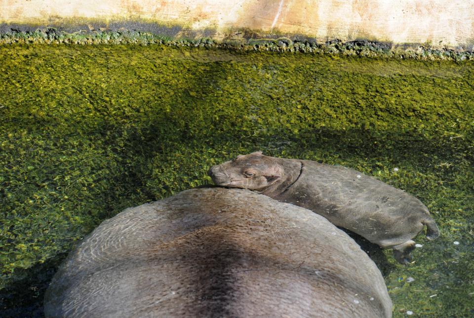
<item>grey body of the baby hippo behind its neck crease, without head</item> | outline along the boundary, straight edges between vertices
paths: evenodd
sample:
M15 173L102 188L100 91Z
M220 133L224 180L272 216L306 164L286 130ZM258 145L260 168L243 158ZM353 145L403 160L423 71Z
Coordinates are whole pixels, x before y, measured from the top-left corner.
M298 180L272 198L308 208L382 247L415 237L424 225L429 238L438 236L428 208L414 196L351 168L301 162Z

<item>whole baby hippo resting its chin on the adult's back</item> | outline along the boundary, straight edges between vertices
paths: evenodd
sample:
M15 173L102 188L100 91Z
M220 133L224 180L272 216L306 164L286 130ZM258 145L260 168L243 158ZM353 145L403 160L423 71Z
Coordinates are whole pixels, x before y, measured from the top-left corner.
M343 166L255 152L215 165L208 174L216 185L256 190L305 207L372 243L392 247L401 264L411 261L412 238L424 225L427 238L439 236L428 208L419 199Z

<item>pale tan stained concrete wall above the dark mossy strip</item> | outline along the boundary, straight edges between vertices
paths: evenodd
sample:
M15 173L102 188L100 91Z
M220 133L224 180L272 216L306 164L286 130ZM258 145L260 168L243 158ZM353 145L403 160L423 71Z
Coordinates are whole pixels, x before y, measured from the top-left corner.
M472 51L472 0L2 0L0 33L136 30L217 41L285 36ZM413 46L413 45L412 45Z

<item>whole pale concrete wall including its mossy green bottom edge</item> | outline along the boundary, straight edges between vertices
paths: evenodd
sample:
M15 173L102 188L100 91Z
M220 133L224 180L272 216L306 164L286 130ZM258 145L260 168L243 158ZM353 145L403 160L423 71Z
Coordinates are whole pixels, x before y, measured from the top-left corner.
M460 60L474 0L3 0L0 38Z

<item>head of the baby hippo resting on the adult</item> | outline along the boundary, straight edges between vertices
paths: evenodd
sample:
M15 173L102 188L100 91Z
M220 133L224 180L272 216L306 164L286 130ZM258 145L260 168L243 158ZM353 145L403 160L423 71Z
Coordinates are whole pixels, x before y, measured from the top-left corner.
M218 186L261 190L274 185L283 175L283 168L276 158L254 152L212 166L207 174Z

